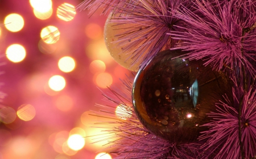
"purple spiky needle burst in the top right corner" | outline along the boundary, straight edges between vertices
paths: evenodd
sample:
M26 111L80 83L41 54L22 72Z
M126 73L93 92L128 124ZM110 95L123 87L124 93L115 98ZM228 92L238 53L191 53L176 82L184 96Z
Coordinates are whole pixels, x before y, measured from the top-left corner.
M170 34L184 41L175 49L190 51L187 58L204 59L205 65L216 70L245 66L246 71L255 75L255 66L250 61L255 61L256 31L244 31L256 22L255 8L249 3L256 4L250 0L196 0L195 12L186 7L177 10L175 17L183 19L186 26L176 26L185 32Z

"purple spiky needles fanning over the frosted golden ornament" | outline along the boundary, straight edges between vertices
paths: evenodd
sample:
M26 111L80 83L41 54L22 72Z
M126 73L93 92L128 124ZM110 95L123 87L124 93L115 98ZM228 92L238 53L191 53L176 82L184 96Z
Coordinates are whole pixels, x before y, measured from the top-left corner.
M148 61L160 50L174 46L177 41L167 33L183 31L176 27L182 25L183 20L173 16L174 10L181 5L191 8L191 2L187 0L131 0L127 3L129 7L117 7L118 10L113 12L118 16L113 16L111 22L127 24L126 28L122 28L123 33L116 35L117 45L126 45L122 53L130 54L136 63Z

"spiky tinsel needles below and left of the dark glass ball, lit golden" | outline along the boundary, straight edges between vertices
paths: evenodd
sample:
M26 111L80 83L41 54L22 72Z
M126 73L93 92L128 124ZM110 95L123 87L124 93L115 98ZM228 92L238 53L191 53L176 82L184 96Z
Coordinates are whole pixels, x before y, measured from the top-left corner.
M104 122L106 126L102 126L102 122L100 122L101 126L97 126L97 123L94 124L94 127L101 128L104 134L109 134L98 141L108 140L109 148L117 149L108 153L118 154L115 158L205 158L205 154L201 153L200 150L200 141L190 144L170 143L150 134L142 126L131 103L133 78L130 77L123 81L122 89L112 87L109 94L104 94L106 100L115 106L98 105L102 109L91 113L108 120L114 119L112 122ZM116 111L117 105L119 106L118 112Z

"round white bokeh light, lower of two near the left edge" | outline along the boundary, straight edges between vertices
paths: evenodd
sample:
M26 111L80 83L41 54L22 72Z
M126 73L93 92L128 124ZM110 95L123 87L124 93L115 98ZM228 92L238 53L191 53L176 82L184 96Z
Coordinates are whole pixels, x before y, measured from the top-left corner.
M26 57L26 50L22 45L13 44L6 49L6 57L11 62L20 62Z

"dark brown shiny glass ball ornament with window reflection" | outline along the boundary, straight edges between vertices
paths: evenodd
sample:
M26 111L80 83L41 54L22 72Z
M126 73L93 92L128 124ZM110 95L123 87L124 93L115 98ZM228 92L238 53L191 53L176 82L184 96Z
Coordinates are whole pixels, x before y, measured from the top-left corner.
M222 94L232 92L223 72L204 67L202 61L174 58L180 50L158 53L138 71L133 85L133 106L141 123L154 135L176 143L189 143L205 130L207 113Z

